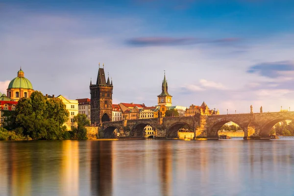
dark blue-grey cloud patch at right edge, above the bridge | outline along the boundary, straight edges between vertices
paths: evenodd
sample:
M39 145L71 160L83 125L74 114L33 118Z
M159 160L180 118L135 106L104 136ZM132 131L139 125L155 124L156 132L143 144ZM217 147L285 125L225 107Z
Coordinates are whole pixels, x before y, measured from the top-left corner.
M294 71L294 63L291 61L280 61L271 63L260 63L251 66L247 73L258 73L261 76L277 78L287 74L289 71ZM289 80L289 78L288 78Z

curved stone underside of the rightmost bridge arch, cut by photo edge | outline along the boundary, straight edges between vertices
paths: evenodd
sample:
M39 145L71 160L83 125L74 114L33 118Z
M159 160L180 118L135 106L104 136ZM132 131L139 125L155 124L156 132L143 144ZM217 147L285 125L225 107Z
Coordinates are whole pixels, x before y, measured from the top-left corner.
M276 123L279 123L281 121L286 121L286 120L289 120L289 121L293 121L294 122L294 116L278 116L278 117L275 117L275 118L272 118L268 121L266 121L260 128L260 133L259 135L261 137L269 137L269 134L270 134L270 130L271 128L276 124Z

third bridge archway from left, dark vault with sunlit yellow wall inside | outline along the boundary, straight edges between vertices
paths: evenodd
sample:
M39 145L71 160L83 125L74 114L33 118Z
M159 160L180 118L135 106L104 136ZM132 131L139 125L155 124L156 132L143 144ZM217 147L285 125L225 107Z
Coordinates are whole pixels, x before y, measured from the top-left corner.
M167 138L193 139L193 127L188 123L175 123L168 129Z

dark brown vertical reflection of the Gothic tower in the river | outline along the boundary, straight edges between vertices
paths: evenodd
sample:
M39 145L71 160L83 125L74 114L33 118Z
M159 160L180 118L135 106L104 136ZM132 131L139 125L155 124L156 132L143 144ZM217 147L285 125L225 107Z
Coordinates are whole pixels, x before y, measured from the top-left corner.
M112 141L91 142L91 195L112 196Z

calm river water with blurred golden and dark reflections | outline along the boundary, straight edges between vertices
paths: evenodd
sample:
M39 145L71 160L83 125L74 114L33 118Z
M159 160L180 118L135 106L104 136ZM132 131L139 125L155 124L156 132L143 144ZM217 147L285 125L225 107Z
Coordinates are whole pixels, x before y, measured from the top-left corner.
M0 142L1 196L293 196L294 140Z

